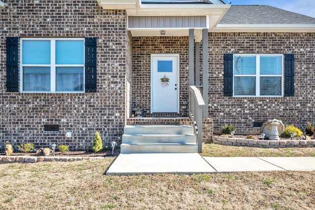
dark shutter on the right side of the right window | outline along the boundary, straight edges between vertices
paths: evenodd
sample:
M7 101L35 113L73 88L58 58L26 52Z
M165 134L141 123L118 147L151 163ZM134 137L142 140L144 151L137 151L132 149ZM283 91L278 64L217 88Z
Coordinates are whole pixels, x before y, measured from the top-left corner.
M284 96L294 96L294 54L285 54Z

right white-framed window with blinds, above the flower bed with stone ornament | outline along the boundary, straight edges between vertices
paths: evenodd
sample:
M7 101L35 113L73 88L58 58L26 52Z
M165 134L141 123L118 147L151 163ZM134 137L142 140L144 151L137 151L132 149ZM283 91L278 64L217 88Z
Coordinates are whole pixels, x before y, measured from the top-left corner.
M283 55L233 57L234 96L283 96Z

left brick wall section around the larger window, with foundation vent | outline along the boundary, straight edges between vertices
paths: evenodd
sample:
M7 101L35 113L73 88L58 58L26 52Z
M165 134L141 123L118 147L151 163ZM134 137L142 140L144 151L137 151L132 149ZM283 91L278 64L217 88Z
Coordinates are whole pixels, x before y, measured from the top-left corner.
M34 143L35 148L56 143L86 150L96 130L103 143L119 142L125 122L125 11L103 10L96 0L5 3L0 9L0 150L5 141L15 147L22 142ZM97 92L6 92L7 36L97 37ZM60 131L45 133L45 124L59 124ZM65 138L66 131L72 131L71 139Z

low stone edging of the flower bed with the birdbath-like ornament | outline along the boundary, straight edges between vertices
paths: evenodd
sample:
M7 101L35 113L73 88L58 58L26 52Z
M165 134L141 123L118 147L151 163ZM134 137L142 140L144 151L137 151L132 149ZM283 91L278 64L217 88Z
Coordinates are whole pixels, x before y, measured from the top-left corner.
M214 136L213 143L227 146L244 146L256 148L314 148L315 140L254 140Z

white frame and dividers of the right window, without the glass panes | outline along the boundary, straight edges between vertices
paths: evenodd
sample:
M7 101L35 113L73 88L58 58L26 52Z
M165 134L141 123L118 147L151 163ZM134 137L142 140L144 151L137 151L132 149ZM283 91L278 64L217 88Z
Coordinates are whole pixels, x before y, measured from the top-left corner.
M256 57L256 74L255 75L239 75L242 77L246 76L254 76L256 79L256 94L255 95L235 95L234 91L234 70L233 70L233 97L256 97L256 98L261 98L261 97L284 97L284 55L283 54L233 54L233 69L235 67L235 57L237 56L255 56ZM280 75L267 75L264 74L263 77L279 77L281 76L281 95L262 95L260 96L260 56L281 56L282 58L282 64L281 64L281 72L282 74ZM236 76L237 77L237 76Z

